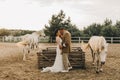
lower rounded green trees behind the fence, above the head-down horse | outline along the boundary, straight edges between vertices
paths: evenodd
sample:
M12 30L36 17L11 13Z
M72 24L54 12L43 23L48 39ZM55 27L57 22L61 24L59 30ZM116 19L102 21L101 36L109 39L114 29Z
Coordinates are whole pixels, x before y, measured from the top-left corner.
M119 37L120 36L120 21L112 24L112 20L106 19L103 24L93 23L92 25L84 28L83 36L106 36L106 37Z

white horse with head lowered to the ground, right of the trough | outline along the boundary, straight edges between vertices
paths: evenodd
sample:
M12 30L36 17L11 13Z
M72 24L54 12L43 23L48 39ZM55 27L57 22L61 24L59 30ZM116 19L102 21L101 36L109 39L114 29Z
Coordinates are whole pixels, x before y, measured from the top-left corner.
M103 36L93 36L84 48L84 50L87 48L91 50L93 64L96 65L96 73L103 71L102 66L105 64L107 47L108 44Z

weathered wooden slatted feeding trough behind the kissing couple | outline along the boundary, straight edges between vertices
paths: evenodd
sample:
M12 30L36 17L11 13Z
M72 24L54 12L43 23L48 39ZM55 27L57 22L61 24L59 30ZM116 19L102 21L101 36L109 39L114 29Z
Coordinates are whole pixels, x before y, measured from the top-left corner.
M38 56L38 68L52 66L55 61L56 47L48 47L37 52ZM85 53L80 47L72 47L72 51L69 53L69 61L73 68L85 68Z

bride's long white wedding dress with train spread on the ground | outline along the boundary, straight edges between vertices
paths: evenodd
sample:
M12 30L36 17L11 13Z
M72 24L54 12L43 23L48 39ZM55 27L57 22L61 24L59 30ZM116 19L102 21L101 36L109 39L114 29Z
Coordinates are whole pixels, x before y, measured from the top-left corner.
M62 44L62 39L56 37L57 48L56 48L56 58L53 66L43 68L41 72L62 72L64 70L63 61L62 61L62 50L59 48L59 45Z

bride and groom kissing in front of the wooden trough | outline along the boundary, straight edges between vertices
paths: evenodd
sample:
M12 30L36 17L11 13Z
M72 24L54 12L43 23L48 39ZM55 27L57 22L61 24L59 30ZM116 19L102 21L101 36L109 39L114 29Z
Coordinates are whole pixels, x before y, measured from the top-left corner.
M56 57L53 66L43 68L41 72L69 72L72 66L68 55L71 52L71 34L64 28L60 28L56 34Z

